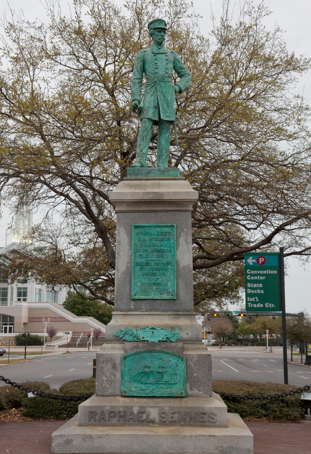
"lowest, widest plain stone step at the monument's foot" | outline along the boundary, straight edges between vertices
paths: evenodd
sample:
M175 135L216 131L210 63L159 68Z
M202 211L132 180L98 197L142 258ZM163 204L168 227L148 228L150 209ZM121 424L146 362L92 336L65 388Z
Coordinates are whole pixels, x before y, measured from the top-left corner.
M78 426L78 415L52 434L52 454L253 454L241 417L228 427Z

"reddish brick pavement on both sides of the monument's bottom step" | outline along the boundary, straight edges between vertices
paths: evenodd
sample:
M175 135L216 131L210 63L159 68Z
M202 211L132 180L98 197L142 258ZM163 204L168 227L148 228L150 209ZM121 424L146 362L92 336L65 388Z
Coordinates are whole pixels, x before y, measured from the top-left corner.
M0 454L50 454L51 434L64 421L0 424ZM254 435L254 454L311 453L311 424L246 421ZM194 453L198 454L198 453Z

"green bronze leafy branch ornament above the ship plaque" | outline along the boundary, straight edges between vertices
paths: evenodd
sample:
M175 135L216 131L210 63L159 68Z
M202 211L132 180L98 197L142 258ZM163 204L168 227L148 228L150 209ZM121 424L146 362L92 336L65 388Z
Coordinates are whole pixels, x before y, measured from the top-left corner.
M137 333L134 328L125 328L114 333L114 336L127 342L176 342L181 337L178 328L172 331L154 326L138 329Z

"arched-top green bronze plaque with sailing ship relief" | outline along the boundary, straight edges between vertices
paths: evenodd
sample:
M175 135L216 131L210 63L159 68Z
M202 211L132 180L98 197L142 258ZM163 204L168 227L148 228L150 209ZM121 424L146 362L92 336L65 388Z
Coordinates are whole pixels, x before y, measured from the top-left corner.
M186 396L186 358L167 351L122 356L123 396Z

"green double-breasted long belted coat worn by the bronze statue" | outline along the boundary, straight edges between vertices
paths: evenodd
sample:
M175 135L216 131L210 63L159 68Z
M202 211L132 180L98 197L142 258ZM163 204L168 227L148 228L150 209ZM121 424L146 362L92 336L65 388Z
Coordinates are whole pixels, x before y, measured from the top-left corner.
M131 91L132 102L136 99L140 103L145 74L147 82L140 118L152 118L157 121L160 115L163 120L175 121L175 90L173 82L168 80L172 77L173 71L180 78L176 85L179 86L180 93L183 93L190 84L191 75L176 52L166 49L165 46L159 49L154 43L148 49L138 52Z

